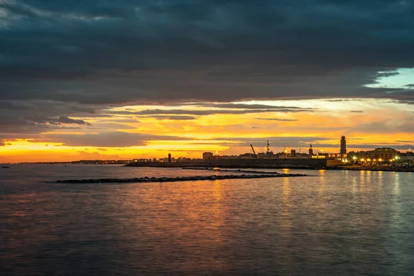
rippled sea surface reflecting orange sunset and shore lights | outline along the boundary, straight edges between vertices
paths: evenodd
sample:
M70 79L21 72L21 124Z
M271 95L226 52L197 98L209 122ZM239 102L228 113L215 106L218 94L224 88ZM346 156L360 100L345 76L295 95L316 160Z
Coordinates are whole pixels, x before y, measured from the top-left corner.
M0 275L414 275L412 173L292 172L315 177L55 184L212 172L0 168Z

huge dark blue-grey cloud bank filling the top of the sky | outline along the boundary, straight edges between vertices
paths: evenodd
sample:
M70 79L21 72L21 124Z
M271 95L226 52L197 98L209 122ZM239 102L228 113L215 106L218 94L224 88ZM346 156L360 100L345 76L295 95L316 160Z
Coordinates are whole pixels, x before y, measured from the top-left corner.
M0 9L7 101L414 99L362 87L414 67L412 1L15 0Z

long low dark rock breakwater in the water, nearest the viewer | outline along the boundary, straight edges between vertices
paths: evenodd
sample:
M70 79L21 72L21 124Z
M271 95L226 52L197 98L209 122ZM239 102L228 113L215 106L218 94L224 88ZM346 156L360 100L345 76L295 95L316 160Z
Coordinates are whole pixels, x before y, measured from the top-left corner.
M272 178L272 177L306 177L299 174L273 174L273 175L210 175L193 177L138 177L138 178L100 178L100 179L66 179L57 180L57 183L141 183L141 182L177 182L177 181L199 181L199 180L219 180L219 179L253 179L253 178Z

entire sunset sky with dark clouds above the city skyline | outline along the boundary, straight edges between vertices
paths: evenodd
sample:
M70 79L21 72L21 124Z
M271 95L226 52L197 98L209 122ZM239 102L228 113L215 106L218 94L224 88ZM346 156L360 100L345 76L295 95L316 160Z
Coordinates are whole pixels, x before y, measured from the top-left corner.
M414 148L408 0L0 0L0 163Z

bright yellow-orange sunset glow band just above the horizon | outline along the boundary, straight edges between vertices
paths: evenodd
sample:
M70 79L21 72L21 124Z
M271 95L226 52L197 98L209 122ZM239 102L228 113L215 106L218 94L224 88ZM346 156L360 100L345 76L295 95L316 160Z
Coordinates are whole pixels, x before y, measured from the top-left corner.
M372 149L377 147L409 144L412 142L412 128L404 128L407 121L414 119L413 107L390 100L357 99L353 101L303 100L303 101L248 101L248 104L272 106L298 106L318 108L315 112L257 112L244 114L186 115L195 119L157 119L152 115L113 115L113 117L74 117L85 119L92 127L81 126L77 130L52 130L43 132L33 139L5 139L0 146L0 163L8 161L70 161L90 159L134 159L160 158L172 151L173 157L201 157L203 151L219 151L220 155L239 155L249 152L249 139L262 151L268 137L321 137L309 142L317 144L314 152L339 152L339 137L345 135L347 150ZM123 106L106 112L128 110L220 110L220 108L199 107L196 104L183 106ZM229 110L229 109L226 109ZM230 110L240 110L232 108ZM358 111L358 112L351 112ZM409 126L409 125L408 125ZM128 147L65 146L53 137L64 135L101 135L102 132L128 132L143 135L164 135L183 139L137 141ZM25 135L26 137L28 135ZM52 138L50 138L52 137ZM397 138L396 138L397 137ZM240 141L239 139L243 139ZM401 142L398 142L398 141ZM0 141L1 142L1 141ZM355 145L352 147L350 145ZM359 146L360 145L360 146ZM306 146L307 143L306 143ZM307 151L302 146L302 151ZM299 150L299 146L286 144ZM412 148L413 146L407 146ZM282 152L284 146L270 141L270 149ZM405 151L405 150L402 150Z

